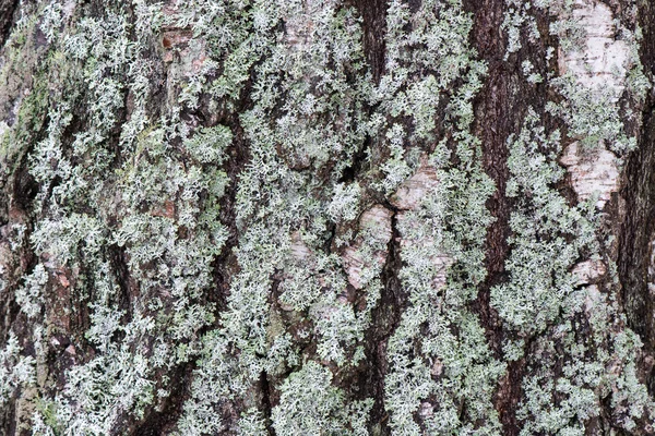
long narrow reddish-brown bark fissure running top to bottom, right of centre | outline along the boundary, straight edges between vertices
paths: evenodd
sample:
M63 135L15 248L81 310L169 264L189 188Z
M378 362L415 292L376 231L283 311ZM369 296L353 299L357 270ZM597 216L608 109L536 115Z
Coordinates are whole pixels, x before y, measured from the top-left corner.
M487 279L483 283L474 310L480 317L486 337L497 356L501 354L502 329L496 311L490 306L491 287L507 280L504 262L509 255L510 202L505 196L505 185L510 177L507 158L507 140L513 133L516 117L514 101L510 93L510 71L503 56L507 50L505 36L501 32L504 0L472 1L468 8L475 11L473 29L474 46L480 57L488 62L488 77L480 97L476 101L475 133L481 141L483 168L496 183L496 192L488 199L487 208L495 218L487 231L486 258ZM505 379L501 379L495 397L496 409L500 415L503 433L510 436L519 434L516 422L516 402L520 392L513 386L521 386L521 367L514 362L508 366ZM504 382L504 383L503 383ZM507 385L507 386L504 386Z

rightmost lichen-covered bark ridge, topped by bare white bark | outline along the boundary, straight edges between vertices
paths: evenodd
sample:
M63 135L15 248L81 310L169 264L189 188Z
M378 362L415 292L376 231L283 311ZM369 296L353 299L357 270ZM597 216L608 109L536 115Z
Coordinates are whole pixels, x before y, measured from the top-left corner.
M560 74L549 84L561 98L547 102L545 109L563 122L568 137L561 137L558 129L548 132L531 109L522 132L508 141L511 178L505 194L516 201L510 218L512 252L505 262L510 278L491 290L490 303L508 329L515 331L503 344L507 359L525 359L527 363L527 376L522 382L524 399L516 414L523 423L521 434L595 432L593 422L603 413L603 401L609 399L612 426L632 432L641 422L648 423L648 431L655 404L635 368L642 343L626 327L612 294L616 272L604 266L611 266L612 261L598 245L603 220L597 210L609 199L604 190L609 186L616 191L612 178L617 171L611 169L636 144L628 134L619 99L628 97L639 105L647 87L635 55L639 29L627 27L633 19L630 13L623 16L628 24L608 21L611 13L604 3L532 5L548 7L559 14L550 26L561 46L559 72L547 75ZM529 10L531 2L524 7ZM612 43L606 27L615 26L621 38ZM597 49L596 40L606 39L606 48L616 45L608 48L607 58L619 64L611 72L614 78L599 83L594 75L607 73L597 64L604 62L605 55L598 57L593 50ZM529 75L526 80L531 81ZM571 205L556 189L565 173L558 165L564 140L575 141L561 161L569 166L581 199L577 205ZM579 166L579 158L571 156L581 147L591 165ZM606 156L611 157L609 167ZM604 170L607 168L610 171ZM577 173L585 169L590 174ZM598 191L590 196L593 189ZM597 202L599 196L603 201ZM606 284L594 282L608 272ZM580 335L581 330L586 334Z

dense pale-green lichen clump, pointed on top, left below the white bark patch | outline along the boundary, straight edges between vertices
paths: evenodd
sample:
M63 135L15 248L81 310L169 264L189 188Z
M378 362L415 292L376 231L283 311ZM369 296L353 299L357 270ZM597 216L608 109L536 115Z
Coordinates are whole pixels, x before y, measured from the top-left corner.
M553 160L559 145L559 132L547 135L534 111L521 134L509 140L507 195L517 202L505 262L510 280L491 289L490 304L526 336L543 331L562 306L575 306L575 278L569 269L595 241L588 205L572 208L552 187L564 173Z

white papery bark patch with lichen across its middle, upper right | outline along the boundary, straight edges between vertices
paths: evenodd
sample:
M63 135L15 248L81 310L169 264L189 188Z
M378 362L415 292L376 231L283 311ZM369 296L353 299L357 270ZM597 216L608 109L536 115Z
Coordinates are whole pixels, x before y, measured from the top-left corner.
M577 26L574 37L563 29L568 22ZM618 191L622 156L636 146L635 138L626 133L619 99L627 92L640 101L648 87L638 55L641 32L629 25L604 2L576 0L559 10L551 27L562 47L558 53L561 77L552 84L564 99L549 102L547 109L564 120L569 136L576 140L561 160L574 191L582 201L598 192L599 208Z

